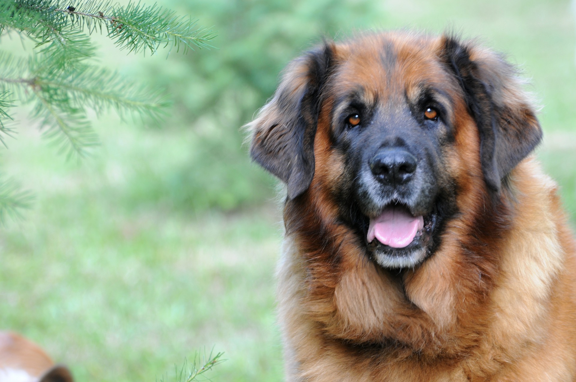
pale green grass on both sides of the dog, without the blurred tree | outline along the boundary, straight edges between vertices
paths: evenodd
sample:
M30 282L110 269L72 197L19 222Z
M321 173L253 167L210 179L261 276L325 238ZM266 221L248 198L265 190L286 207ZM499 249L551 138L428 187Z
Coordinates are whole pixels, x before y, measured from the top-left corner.
M538 155L575 222L576 29L569 3L462 4L384 1L380 24L342 30L448 26L508 52L543 105ZM140 62L120 61L128 68ZM174 365L213 346L227 359L209 375L215 382L282 380L274 315L282 226L272 190L257 208L179 211L147 201L142 189L190 159L194 132L104 117L102 146L76 163L47 147L34 124L24 119L19 131L0 152L3 172L33 190L36 201L24 220L0 230L1 327L39 342L78 381L171 381Z

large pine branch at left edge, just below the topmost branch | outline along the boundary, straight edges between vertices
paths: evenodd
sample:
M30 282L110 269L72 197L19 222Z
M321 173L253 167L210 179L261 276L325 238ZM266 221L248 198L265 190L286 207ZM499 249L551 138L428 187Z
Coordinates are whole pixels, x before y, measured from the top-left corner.
M14 91L24 102L36 102L33 117L46 128L44 135L68 155L85 156L86 148L98 144L85 108L98 113L113 108L122 118L131 114L158 120L169 105L160 91L146 89L117 72L86 65L55 69L52 62L59 58L44 57L39 54L24 61L0 55L0 88Z

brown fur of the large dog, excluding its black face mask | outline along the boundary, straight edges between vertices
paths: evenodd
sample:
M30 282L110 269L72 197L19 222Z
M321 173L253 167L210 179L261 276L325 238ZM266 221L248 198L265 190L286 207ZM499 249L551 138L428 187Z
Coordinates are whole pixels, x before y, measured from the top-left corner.
M500 173L491 178L482 116L466 98L475 90L446 70L448 40L393 32L329 43L320 48L329 50L328 68L295 60L251 124L252 155L288 185L278 264L287 381L576 381L574 243L556 185L529 154L539 140L533 108L498 55L458 43L473 75L488 84L494 118L534 137L509 162L498 159ZM310 85L317 78L329 81ZM458 212L422 263L386 269L342 223L336 190L350 179L334 148L332 109L339 93L358 84L369 90L363 97L392 108L423 82L452 99L453 140L442 148L439 182L455 190ZM307 97L316 108L304 109ZM293 139L286 136L298 113L314 131L302 128L304 154L287 161L285 140ZM514 151L510 142L505 150Z

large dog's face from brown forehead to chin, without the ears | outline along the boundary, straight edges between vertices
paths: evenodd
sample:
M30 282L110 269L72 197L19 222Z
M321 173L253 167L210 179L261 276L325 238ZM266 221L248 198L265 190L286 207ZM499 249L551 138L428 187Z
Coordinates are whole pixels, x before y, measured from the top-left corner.
M322 110L342 161L333 192L380 265L414 266L433 249L438 204L454 193L445 153L457 84L420 50L369 47L352 49L326 87Z

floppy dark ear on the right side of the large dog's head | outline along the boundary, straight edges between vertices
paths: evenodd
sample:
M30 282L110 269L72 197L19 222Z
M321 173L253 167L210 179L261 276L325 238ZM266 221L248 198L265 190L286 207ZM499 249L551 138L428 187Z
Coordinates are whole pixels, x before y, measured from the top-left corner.
M444 36L440 57L456 74L480 134L480 161L488 188L502 180L542 138L536 113L513 66L472 43Z

